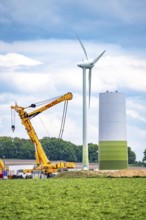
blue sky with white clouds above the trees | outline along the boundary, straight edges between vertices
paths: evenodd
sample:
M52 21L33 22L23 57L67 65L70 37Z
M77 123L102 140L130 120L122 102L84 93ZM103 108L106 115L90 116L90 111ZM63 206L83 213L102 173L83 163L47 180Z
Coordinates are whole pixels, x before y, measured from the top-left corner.
M0 0L0 135L28 138L17 114L11 131L15 102L25 107L71 92L63 139L82 145L82 70L77 64L86 58L77 33L89 58L106 50L92 71L88 143L98 144L99 93L118 90L126 99L128 146L142 160L145 11L145 0ZM32 120L39 138L58 137L63 105Z

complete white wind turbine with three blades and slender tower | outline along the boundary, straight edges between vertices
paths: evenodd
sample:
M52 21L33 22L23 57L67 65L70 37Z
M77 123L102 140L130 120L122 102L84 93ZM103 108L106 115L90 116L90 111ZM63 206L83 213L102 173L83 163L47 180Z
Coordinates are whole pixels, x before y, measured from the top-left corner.
M83 46L78 35L76 36L80 42L80 45L86 57L86 60L78 64L78 66L82 68L83 70L83 155L82 155L83 169L88 170L89 169L89 158L88 158L88 142L87 142L86 69L89 69L89 106L90 106L92 68L94 67L96 62L102 57L102 55L105 53L105 50L94 60L89 60L85 47Z

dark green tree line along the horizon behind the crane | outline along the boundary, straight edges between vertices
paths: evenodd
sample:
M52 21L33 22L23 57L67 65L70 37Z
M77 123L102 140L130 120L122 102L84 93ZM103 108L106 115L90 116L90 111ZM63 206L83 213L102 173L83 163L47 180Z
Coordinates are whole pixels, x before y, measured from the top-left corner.
M40 139L50 161L82 162L82 146L58 138ZM89 162L98 162L98 145L89 143ZM35 147L29 139L0 137L0 158L35 159ZM128 162L136 162L136 154L128 147Z

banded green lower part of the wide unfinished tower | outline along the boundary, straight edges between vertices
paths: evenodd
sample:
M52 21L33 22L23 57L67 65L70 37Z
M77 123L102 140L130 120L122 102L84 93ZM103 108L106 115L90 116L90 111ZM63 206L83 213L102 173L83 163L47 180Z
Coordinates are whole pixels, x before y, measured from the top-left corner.
M127 169L127 141L100 141L98 161L100 170Z

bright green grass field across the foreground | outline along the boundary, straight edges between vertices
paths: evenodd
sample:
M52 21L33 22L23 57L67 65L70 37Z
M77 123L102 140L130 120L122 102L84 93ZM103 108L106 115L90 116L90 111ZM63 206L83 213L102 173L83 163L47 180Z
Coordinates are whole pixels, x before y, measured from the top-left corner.
M146 178L0 181L0 219L146 219Z

